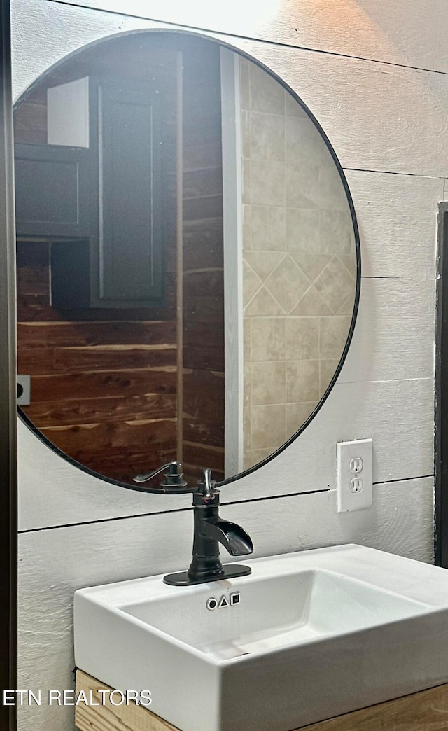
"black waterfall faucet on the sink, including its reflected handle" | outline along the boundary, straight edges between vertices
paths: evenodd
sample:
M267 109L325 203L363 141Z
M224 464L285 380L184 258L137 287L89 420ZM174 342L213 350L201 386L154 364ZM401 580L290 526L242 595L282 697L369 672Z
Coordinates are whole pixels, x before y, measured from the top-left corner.
M197 488L189 488L182 479L181 463L170 462L160 469L134 477L136 482L145 482L156 477L164 469L165 480L160 488L145 488L152 493L193 493L194 538L193 560L188 571L164 576L164 582L173 586L191 586L205 581L217 581L251 573L251 567L241 564L221 564L219 544L224 546L230 556L248 556L253 553L251 537L236 523L219 517L219 490L211 479L211 470L201 471Z

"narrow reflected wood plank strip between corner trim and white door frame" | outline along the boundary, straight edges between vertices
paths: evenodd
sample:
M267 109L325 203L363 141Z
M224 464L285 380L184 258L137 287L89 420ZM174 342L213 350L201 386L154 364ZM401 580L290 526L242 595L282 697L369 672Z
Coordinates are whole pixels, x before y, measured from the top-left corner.
M184 64L183 468L224 478L224 260L219 46ZM201 84L197 84L197 79Z

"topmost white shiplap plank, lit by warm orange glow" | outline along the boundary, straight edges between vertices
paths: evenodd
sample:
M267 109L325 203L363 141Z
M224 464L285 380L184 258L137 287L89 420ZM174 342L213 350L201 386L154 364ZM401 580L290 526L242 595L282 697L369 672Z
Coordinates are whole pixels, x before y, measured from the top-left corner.
M71 0L66 0L71 4ZM72 4L97 10L123 12L121 0L73 0ZM260 40L319 48L327 53L358 56L425 69L448 72L442 52L448 8L444 0L432 0L428 8L418 0L403 0L391 6L388 0L259 0L257 12L239 0L204 4L202 0L156 0L145 7L141 0L128 0L126 13L166 23L221 31Z

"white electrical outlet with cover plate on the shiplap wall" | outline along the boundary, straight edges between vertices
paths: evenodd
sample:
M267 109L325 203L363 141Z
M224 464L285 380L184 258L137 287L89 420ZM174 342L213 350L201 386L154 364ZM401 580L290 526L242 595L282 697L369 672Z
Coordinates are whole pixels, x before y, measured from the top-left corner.
M372 439L338 442L338 512L371 506L372 454Z

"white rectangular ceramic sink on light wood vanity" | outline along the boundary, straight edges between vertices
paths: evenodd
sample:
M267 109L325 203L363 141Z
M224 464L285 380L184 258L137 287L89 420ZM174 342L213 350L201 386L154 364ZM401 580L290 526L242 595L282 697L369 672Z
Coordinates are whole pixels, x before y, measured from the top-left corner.
M290 731L448 682L448 572L357 545L75 594L77 667L182 731Z

